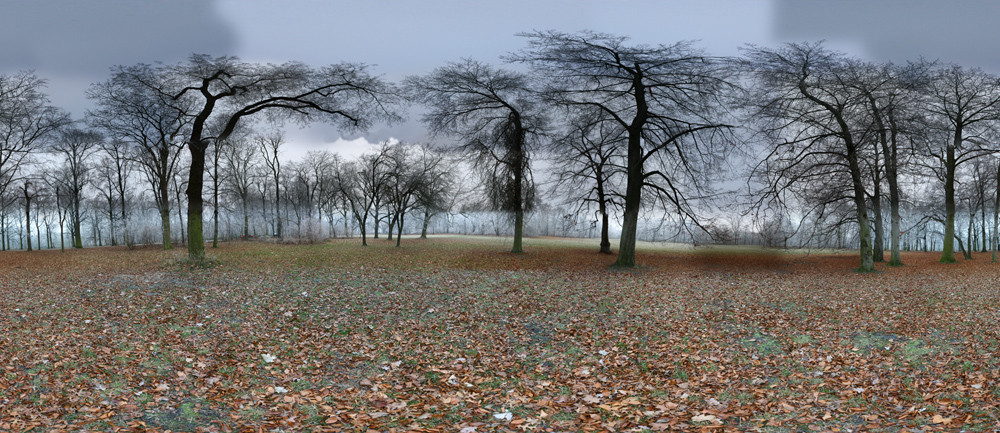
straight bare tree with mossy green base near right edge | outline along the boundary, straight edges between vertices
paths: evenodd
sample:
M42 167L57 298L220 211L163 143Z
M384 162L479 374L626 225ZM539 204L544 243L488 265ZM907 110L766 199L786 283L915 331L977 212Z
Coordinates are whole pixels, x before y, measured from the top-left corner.
M924 87L928 124L937 132L924 141L944 181L944 245L942 263L955 262L955 181L962 164L995 151L984 136L1000 119L1000 79L957 65L931 72Z

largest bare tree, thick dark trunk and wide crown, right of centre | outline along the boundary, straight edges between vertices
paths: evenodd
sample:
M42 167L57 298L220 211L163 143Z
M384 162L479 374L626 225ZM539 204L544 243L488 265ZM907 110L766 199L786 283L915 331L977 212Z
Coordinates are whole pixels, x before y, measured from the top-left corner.
M643 190L697 223L691 200L707 195L714 170L732 149L722 98L731 72L690 43L627 45L601 33L522 34L512 60L545 77L546 93L566 107L603 112L626 132L626 185L616 266L635 266Z

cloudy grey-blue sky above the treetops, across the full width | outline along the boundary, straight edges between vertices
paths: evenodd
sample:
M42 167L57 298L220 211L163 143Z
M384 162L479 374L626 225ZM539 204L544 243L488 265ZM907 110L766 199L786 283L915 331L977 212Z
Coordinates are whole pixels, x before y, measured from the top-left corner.
M870 60L923 56L1000 72L1000 2L991 0L42 0L0 6L0 73L34 70L54 104L79 118L84 91L112 65L179 62L191 53L244 60L374 65L388 80L462 57L499 62L515 33L594 30L643 44L698 40L715 55L746 43L826 40ZM411 121L362 136L291 131L286 156L341 153L390 137L425 140Z

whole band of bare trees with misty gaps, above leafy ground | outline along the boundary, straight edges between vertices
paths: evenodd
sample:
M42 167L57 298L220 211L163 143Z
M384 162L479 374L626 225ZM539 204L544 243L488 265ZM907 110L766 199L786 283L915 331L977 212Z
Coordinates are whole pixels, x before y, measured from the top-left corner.
M512 236L517 253L558 235L599 237L623 267L645 239L855 248L862 271L886 249L892 265L900 250L996 251L993 74L811 42L723 58L520 36L503 59L399 83L360 63L113 66L75 120L44 77L0 76L0 247L184 244L200 261L206 239L471 233ZM433 142L282 157L289 125L364 132L413 105Z

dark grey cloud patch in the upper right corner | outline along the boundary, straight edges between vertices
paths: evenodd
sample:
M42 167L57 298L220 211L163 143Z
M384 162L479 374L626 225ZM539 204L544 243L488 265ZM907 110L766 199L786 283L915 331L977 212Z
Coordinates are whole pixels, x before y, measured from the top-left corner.
M782 40L859 44L873 60L920 56L1000 71L1000 2L993 0L777 0Z

